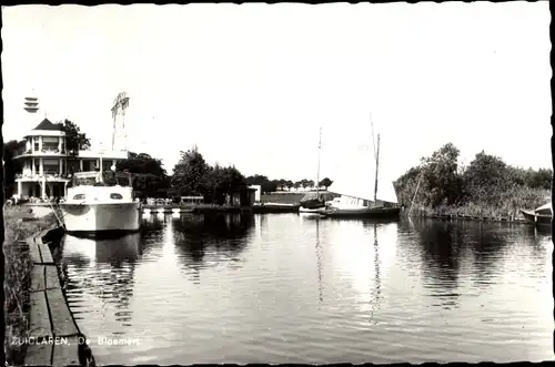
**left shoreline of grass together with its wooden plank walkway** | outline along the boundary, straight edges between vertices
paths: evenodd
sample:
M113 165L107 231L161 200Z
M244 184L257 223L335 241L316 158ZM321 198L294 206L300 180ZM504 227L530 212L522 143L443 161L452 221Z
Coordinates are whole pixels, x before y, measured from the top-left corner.
M83 343L65 298L65 282L61 264L60 244L64 235L54 213L28 218L24 206L6 213L11 235L6 247L12 247L7 266L19 266L13 276L23 277L21 284L10 284L17 297L19 317L7 323L4 347L11 365L78 365L94 366L89 346ZM8 264L10 261L10 264ZM27 266L21 267L19 263ZM20 300L22 299L22 300ZM24 318L24 319L23 319ZM19 323L19 324L13 324Z

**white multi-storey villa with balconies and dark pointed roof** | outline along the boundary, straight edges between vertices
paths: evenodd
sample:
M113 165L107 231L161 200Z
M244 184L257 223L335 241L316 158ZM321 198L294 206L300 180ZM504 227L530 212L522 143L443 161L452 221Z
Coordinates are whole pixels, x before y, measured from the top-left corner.
M79 151L77 155L65 150L65 132L61 124L44 119L24 139L24 152L14 159L22 161L23 171L16 176L16 197L62 197L71 175L75 172L109 171L118 161L128 157L127 150L93 152Z

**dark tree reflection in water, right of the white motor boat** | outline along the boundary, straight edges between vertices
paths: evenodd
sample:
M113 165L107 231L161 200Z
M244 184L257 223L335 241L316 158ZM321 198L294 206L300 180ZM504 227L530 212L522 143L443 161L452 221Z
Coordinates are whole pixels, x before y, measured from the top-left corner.
M248 214L185 214L173 222L175 247L185 261L202 262L206 252L231 258L245 247L253 223Z

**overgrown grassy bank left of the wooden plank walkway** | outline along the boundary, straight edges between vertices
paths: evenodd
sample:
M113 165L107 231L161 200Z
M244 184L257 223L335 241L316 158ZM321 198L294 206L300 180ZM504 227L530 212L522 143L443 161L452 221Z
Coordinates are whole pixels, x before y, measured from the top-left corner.
M22 365L26 345L12 343L22 340L29 332L29 308L32 261L24 241L31 235L43 231L57 223L53 214L48 214L37 221L22 222L30 217L29 207L4 207L4 232L3 254L6 256L4 268L4 315L6 335L4 350L9 365Z

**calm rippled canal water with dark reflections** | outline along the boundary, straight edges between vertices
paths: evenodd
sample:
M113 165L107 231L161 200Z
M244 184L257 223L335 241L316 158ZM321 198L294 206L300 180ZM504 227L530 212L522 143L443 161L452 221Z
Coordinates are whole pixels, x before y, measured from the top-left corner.
M63 241L99 365L553 359L552 251L522 225L299 214L152 215L141 235Z

